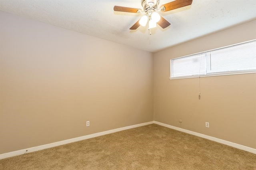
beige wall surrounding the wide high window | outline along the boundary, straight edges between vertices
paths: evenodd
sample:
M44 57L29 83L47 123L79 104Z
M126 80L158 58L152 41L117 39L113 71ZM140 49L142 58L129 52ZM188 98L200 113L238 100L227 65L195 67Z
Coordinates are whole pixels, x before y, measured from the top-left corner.
M253 39L256 20L154 53L154 120L256 148L255 73L201 77L200 100L198 78L168 79L172 58Z

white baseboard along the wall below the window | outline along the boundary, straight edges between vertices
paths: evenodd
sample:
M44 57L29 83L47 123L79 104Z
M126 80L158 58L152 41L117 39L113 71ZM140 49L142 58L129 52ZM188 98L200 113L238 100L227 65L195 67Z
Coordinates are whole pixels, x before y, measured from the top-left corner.
M183 128L174 127L174 126L167 125L167 124L164 124L164 123L160 123L160 122L157 122L157 121L154 121L154 123L157 124L157 125L163 126L163 127L172 128L174 130L178 130L178 131L181 131L181 132L185 132L185 133L188 133L188 134L199 136L201 138L206 138L206 139L209 139L209 140L213 140L213 141L221 143L221 144L226 144L228 146L232 146L234 148L238 148L238 149L245 150L247 152L251 152L251 153L256 154L256 149L250 148L250 147L247 147L247 146L243 146L241 144L236 144L236 143L233 143L233 142L229 142L227 140L222 140L222 139L219 139L219 138L215 138L215 137L208 136L208 135L205 135L205 134L193 132L193 131L186 130L186 129L183 129Z

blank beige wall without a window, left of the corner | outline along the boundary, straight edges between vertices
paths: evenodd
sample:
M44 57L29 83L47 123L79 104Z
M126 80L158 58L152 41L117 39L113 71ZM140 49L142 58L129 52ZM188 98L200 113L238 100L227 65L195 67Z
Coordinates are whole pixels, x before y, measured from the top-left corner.
M0 23L0 154L153 121L152 53L5 12Z

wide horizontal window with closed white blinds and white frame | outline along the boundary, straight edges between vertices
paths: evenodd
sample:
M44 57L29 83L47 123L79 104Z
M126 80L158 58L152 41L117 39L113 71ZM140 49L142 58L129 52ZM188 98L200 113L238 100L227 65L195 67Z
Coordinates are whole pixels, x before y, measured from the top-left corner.
M170 79L256 72L256 40L170 60Z

